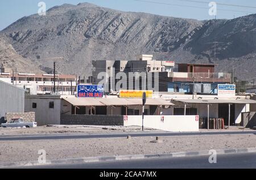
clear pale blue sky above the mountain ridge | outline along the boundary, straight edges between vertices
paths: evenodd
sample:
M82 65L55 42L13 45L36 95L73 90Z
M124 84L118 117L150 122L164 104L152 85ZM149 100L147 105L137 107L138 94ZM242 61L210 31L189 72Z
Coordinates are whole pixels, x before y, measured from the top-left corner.
M41 0L46 9L64 3L77 5L80 2L94 3L111 9L134 12L149 12L165 16L193 19L213 19L207 0ZM214 0L213 0L214 1ZM40 0L4 0L0 2L0 30L11 23L38 12ZM256 14L256 0L216 0L217 18L232 19L238 16ZM219 4L218 4L219 3ZM228 5L220 5L228 4ZM237 6L238 5L238 6ZM242 6L242 7L241 7ZM246 6L246 7L245 7Z

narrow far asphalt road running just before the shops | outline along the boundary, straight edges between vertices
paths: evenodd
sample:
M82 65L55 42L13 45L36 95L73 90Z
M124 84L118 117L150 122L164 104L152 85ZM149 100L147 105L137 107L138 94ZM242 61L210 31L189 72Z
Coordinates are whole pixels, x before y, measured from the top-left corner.
M256 134L256 131L234 131L234 132L123 132L123 133L79 133L65 135L2 135L0 141L20 140L61 140L61 139L92 139L111 137L150 137L150 136L195 136L195 135L245 135Z

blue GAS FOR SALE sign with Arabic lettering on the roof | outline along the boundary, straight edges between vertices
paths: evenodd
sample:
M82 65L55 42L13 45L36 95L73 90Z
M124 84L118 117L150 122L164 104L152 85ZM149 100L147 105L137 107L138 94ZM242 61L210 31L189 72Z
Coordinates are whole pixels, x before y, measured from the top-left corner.
M103 85L77 85L78 98L103 98Z

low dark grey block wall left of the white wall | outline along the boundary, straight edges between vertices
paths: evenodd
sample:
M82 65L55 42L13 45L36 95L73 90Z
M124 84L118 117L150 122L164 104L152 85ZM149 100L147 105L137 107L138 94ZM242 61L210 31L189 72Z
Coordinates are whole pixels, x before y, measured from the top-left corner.
M61 115L64 125L123 125L122 115Z

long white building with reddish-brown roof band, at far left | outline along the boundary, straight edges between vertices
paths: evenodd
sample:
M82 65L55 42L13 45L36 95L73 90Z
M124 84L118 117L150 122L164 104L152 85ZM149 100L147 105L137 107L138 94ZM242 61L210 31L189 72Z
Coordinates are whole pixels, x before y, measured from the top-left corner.
M29 94L51 94L54 89L53 74L0 73L0 79L25 89ZM71 95L76 90L76 76L56 74L55 92Z

